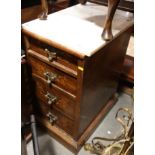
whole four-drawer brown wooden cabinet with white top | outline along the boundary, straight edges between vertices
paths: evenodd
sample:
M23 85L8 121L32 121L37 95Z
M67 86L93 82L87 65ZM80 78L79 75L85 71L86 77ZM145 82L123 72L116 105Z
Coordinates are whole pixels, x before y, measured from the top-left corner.
M45 21L22 25L37 118L73 152L79 151L117 100L133 20L118 11L114 38L105 42L100 19L106 11L98 4L78 4Z

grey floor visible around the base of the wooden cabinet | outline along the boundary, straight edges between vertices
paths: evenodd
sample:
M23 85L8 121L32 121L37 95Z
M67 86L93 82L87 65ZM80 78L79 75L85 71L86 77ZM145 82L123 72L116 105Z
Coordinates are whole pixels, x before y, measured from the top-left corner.
M133 112L133 100L131 96L127 94L120 94L117 103L113 106L107 116L102 120L101 124L91 135L87 142L90 142L93 137L109 137L114 138L121 132L121 126L115 120L116 111L120 107L126 107L132 110ZM58 141L53 139L47 134L43 134L41 131L38 132L38 141L41 155L74 155ZM32 141L27 144L28 155L34 155ZM90 155L88 151L85 151L82 148L78 155Z

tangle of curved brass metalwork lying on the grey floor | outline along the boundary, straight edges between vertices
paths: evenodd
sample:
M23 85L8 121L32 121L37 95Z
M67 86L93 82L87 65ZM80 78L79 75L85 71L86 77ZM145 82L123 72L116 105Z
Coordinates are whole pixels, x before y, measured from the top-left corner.
M121 112L127 115L121 115ZM94 137L91 143L86 143L84 149L97 155L127 155L133 147L133 137L129 136L130 126L133 123L132 112L128 108L120 108L116 112L115 119L122 126L121 134L116 138ZM108 145L103 145L101 141L109 141ZM125 143L129 143L129 147L122 154Z

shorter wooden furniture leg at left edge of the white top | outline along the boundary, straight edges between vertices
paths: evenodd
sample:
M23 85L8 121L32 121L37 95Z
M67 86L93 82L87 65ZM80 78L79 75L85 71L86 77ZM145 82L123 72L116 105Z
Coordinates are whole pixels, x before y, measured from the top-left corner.
M39 15L40 20L46 20L48 15L48 3L47 0L41 0L42 13Z

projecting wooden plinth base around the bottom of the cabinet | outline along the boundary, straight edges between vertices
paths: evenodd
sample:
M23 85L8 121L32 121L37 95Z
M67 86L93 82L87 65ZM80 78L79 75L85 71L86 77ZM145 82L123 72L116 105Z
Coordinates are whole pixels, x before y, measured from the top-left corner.
M53 138L58 140L61 144L63 144L66 148L68 148L73 153L77 154L81 147L85 144L88 138L91 136L93 131L98 127L103 117L108 113L108 111L112 108L112 106L117 102L116 95L113 95L111 99L107 102L106 106L99 112L99 114L95 117L95 119L90 123L87 129L83 132L78 140L74 140L70 135L65 133L60 128L53 126L51 128L51 124L45 122L43 119L39 118L39 121L46 127L47 132Z

